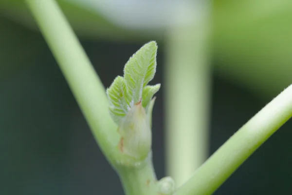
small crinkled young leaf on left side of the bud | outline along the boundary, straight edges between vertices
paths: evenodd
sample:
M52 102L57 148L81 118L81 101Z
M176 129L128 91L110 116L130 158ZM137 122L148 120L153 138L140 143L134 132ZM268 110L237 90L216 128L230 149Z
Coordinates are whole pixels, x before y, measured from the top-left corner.
M116 77L110 85L110 88L107 89L107 95L110 101L110 115L117 124L121 122L129 110L125 92L125 79L120 76Z

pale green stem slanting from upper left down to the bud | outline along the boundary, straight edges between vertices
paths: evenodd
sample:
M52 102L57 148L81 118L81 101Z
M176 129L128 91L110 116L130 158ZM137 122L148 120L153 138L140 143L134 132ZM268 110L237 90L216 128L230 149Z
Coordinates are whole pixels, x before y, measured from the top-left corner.
M26 0L99 146L110 157L119 141L104 86L55 0Z

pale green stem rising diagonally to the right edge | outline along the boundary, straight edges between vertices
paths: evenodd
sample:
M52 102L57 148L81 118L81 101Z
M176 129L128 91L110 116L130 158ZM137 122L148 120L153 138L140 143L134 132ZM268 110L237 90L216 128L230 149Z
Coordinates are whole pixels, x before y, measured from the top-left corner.
M230 137L174 195L210 195L292 117L292 85Z

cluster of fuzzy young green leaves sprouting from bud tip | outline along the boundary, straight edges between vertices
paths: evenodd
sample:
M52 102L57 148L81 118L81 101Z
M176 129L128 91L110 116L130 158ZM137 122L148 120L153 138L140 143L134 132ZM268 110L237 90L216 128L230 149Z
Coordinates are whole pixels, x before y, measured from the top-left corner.
M160 88L160 84L147 85L156 72L156 53L156 42L146 43L126 63L124 77L115 78L107 89L110 115L118 125L140 101L148 113L147 106Z

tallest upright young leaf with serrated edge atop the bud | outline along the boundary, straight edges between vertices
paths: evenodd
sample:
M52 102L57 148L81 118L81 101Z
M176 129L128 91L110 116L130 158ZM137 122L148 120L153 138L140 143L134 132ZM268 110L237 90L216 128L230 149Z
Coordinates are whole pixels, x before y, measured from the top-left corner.
M142 98L143 88L156 72L157 44L150 41L142 46L126 63L124 78L130 107Z

